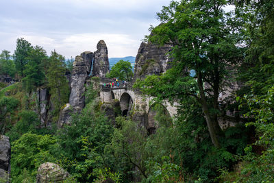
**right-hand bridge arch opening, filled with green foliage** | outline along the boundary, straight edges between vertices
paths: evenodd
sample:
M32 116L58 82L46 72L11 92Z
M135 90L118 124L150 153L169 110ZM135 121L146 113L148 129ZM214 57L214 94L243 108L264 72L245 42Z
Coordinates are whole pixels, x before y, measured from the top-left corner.
M155 134L156 130L160 126L169 126L172 123L171 114L162 103L153 103L148 116L147 134Z

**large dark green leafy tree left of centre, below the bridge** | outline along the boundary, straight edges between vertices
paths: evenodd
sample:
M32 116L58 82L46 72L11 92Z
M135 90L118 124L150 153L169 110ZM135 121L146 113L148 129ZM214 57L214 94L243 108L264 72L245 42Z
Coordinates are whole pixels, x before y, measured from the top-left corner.
M110 143L113 128L97 106L91 100L81 113L73 115L71 125L64 126L57 135L55 154L62 167L79 182L92 182L96 178L93 169L108 167L103 149Z

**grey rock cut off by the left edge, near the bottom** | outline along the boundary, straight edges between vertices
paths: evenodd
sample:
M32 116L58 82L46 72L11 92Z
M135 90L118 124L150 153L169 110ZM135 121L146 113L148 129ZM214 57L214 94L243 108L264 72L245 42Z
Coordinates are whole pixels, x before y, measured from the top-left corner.
M0 178L8 182L10 175L10 139L0 136Z

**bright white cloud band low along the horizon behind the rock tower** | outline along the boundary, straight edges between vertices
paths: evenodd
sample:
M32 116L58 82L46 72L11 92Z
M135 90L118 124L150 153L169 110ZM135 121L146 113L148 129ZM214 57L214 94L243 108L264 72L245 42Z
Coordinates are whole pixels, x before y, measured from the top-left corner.
M0 36L2 34L0 33ZM8 36L8 35L7 35ZM11 36L11 35L9 35ZM97 43L103 39L108 47L109 57L136 56L140 40L135 40L126 34L72 34L64 38L50 38L47 36L21 34L6 41L16 38L25 38L32 45L42 46L48 54L55 49L66 58L74 58L84 51L96 51ZM0 47L2 45L0 44Z

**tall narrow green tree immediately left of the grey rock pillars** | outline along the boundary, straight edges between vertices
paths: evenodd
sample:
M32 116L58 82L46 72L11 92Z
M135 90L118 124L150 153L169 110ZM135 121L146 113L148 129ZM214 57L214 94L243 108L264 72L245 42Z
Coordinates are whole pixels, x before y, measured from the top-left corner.
M69 101L69 84L65 73L64 56L52 51L47 62L46 78L55 114L59 114L61 106ZM58 115L55 116L57 117Z

